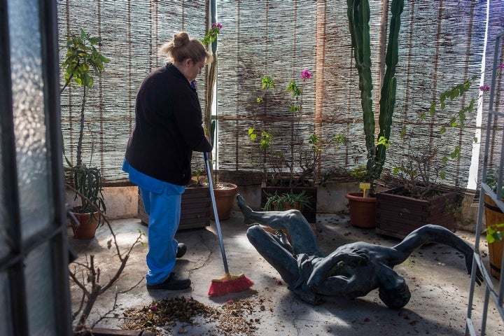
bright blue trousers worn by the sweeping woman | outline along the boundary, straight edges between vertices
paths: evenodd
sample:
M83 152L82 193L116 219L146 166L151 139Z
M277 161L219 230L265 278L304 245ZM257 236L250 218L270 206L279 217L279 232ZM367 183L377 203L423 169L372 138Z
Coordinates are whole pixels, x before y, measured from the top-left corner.
M148 253L146 257L148 272L147 284L162 283L174 269L178 241L175 233L179 228L181 200L184 186L165 183L161 193L140 187L148 223Z

